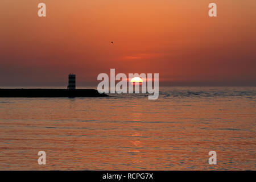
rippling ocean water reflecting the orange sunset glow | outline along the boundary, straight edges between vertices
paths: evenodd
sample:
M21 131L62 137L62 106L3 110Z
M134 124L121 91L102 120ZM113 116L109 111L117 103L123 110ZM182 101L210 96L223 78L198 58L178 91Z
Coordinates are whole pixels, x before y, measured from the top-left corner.
M256 169L255 87L160 87L159 94L0 98L0 169Z

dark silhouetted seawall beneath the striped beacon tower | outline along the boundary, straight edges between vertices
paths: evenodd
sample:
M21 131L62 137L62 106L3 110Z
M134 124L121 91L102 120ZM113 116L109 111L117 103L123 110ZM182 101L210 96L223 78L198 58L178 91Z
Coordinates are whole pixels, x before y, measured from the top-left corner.
M95 89L0 89L0 97L108 97Z

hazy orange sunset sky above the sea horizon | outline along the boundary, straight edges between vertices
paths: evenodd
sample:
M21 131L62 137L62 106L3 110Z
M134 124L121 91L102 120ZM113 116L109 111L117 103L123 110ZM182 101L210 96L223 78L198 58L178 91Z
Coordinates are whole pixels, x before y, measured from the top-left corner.
M208 16L210 2L217 17ZM255 7L255 0L2 0L0 86L67 86L69 73L79 86L97 85L110 68L159 73L160 85L256 86Z

